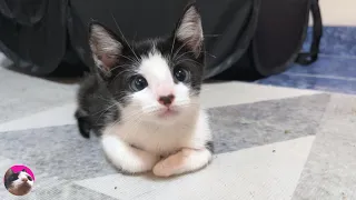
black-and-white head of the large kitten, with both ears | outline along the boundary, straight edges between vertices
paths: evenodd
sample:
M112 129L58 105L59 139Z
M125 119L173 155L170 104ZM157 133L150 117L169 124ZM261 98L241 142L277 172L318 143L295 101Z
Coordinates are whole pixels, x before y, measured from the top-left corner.
M161 121L197 110L205 52L195 4L186 8L167 38L129 44L97 22L90 24L89 36L99 74L132 118Z

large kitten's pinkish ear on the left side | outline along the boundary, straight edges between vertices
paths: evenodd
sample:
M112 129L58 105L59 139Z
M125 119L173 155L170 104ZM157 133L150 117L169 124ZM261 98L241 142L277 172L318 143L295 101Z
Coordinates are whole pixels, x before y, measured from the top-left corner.
M92 21L89 24L89 46L96 66L105 74L118 63L122 52L122 42L102 24Z

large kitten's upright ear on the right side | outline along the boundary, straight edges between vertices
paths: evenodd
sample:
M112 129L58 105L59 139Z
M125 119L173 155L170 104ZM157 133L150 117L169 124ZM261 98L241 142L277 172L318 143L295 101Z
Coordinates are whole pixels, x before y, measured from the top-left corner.
M175 31L175 38L186 44L196 57L199 57L202 48L201 18L195 6L189 4Z

